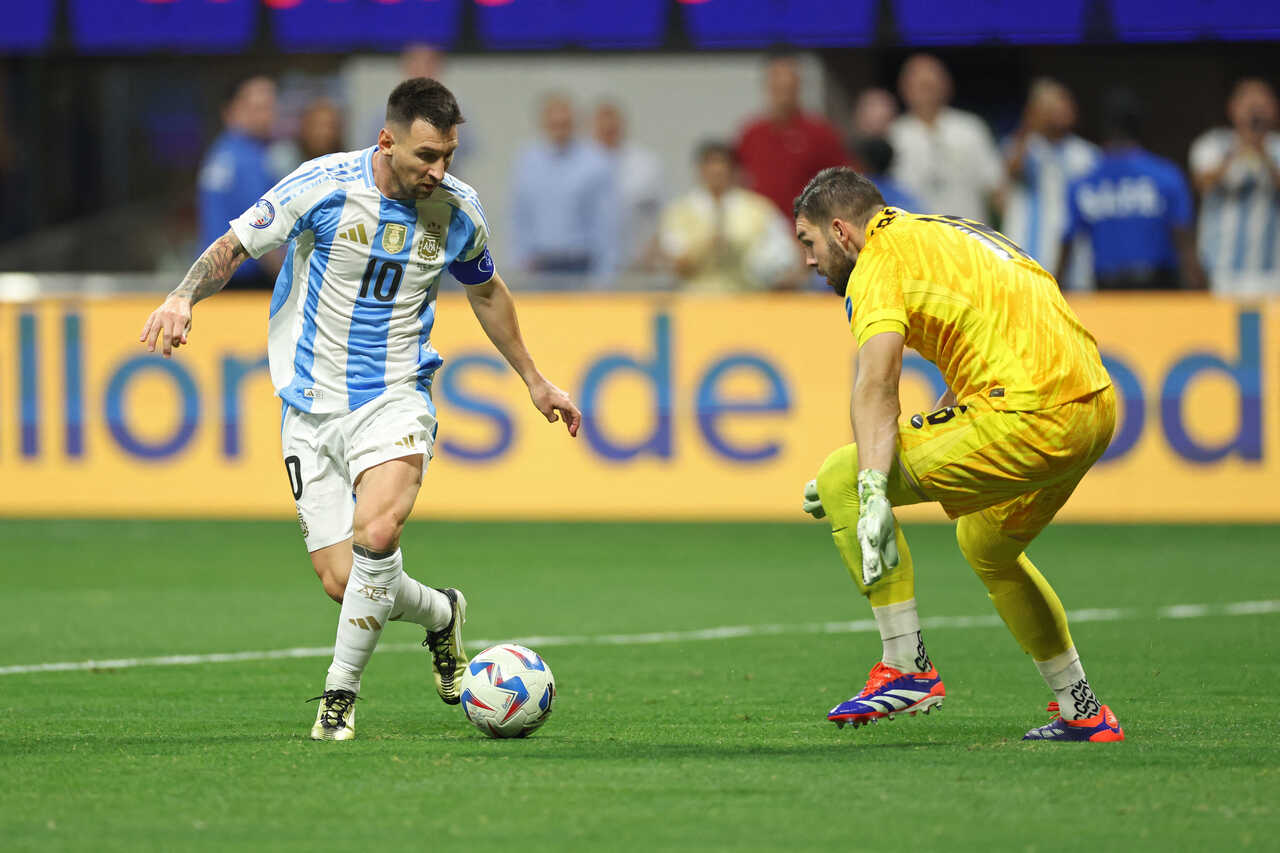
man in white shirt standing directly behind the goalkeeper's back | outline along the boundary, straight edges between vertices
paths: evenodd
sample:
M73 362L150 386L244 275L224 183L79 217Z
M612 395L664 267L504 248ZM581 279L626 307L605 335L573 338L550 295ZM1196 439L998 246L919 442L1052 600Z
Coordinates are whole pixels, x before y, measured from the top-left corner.
M924 205L922 213L987 220L1004 178L987 124L947 106L951 74L937 56L915 54L902 65L899 93L908 113L893 120L893 178Z

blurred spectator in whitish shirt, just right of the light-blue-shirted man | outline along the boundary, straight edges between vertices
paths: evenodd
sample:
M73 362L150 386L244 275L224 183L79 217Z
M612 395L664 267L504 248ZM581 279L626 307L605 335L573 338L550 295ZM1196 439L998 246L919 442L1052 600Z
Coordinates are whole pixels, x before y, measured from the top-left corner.
M658 155L626 140L626 119L612 101L596 105L591 134L613 165L621 205L618 264L622 269L654 269L654 237L663 201Z

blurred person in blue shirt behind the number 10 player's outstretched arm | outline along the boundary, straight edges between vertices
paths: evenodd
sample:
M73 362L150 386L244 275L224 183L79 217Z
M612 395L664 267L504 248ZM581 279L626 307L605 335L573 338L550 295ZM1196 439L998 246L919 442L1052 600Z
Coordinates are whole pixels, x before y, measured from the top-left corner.
M200 165L198 241L210 246L262 197L279 175L271 172L268 146L275 127L275 83L266 77L238 82L223 109L223 131ZM247 259L228 287L271 289L279 257Z

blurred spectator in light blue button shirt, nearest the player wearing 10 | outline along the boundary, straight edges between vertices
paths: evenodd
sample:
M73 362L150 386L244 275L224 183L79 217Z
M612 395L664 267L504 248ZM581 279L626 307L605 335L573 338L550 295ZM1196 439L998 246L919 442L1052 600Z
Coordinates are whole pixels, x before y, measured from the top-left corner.
M617 175L599 146L575 136L573 106L543 99L544 138L516 156L511 260L535 274L608 286L621 259Z

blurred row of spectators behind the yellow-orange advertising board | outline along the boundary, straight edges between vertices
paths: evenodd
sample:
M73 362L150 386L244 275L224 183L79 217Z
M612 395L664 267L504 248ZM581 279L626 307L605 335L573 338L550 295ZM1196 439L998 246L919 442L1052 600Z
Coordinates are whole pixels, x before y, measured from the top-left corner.
M403 77L448 85L447 59L429 45L407 46L385 91ZM570 90L541 92L506 186L477 187L485 200L506 195L493 231L506 234L498 263L508 280L561 289L637 280L719 293L822 288L792 236L791 204L819 169L851 165L872 175L891 205L992 223L1066 289L1280 293L1280 110L1267 79L1235 79L1221 114L1203 115L1202 133L1174 161L1144 147L1160 128L1121 83L1074 92L1050 77L1024 81L1020 115L997 133L992 117L952 105L951 72L928 53L906 55L892 88L849 92L845 114L805 106L801 56L767 54L758 65L759 76L742 81L759 87L755 114L691 151L637 142L626 91L590 101ZM512 109L458 96L463 114ZM1078 129L1078 99L1089 99L1097 117L1092 138ZM193 215L161 214L184 225L164 229L165 246L140 251L136 265L189 264L301 163L355 147L352 140L372 143L381 106L352 102L325 74L237 78L223 95L218 134L201 140L189 175ZM0 99L0 266L23 268L41 243L14 204L24 178L13 129ZM451 169L463 181L468 159L485 146L483 132L468 133L463 126ZM672 179L675 159L692 160L691 181ZM74 169L74 152L69 161ZM140 214L146 222L146 210L123 215ZM50 240L49 251L65 251ZM18 245L26 255L6 255ZM279 263L248 263L233 286L269 288Z

